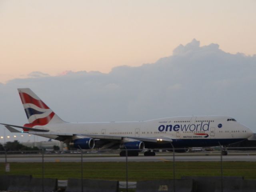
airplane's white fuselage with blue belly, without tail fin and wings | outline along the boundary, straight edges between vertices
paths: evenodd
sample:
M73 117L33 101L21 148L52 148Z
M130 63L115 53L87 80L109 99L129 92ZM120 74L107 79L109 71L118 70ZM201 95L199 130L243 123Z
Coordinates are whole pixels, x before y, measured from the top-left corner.
M226 145L244 140L253 134L248 127L229 116L181 116L141 122L56 123L48 124L45 128L50 132L124 138L164 137L172 139L174 146L181 147ZM41 136L54 139L50 135Z

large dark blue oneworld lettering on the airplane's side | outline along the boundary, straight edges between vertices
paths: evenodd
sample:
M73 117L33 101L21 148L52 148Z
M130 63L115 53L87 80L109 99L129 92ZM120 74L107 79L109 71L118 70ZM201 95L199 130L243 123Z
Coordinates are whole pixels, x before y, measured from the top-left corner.
M206 124L176 124L172 125L160 125L158 130L162 131L208 131L210 127L210 122Z

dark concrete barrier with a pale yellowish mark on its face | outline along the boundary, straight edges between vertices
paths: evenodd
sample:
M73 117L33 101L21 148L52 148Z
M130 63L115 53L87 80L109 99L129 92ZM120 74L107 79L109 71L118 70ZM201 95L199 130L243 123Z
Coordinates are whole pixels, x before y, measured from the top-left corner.
M167 192L173 191L174 180L138 181L136 192ZM193 180L175 180L175 192L192 192Z

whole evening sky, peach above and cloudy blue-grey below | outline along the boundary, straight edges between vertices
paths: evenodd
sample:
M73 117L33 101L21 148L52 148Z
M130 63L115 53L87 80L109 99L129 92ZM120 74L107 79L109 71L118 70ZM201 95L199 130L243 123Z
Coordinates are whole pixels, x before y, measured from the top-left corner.
M256 132L255 7L0 0L0 122L27 122L29 87L70 122L229 115Z

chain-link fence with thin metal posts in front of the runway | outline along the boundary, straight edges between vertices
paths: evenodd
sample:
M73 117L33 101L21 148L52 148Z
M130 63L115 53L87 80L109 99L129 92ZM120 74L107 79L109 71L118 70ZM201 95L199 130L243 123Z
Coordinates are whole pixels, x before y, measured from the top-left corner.
M132 151L1 151L0 175L42 178L42 191L45 178L117 180L126 191L130 183L134 188L134 182L166 179L174 180L175 191L175 180L187 176L218 176L221 188L226 176L256 180L256 147L148 150L155 156L144 151L132 156Z

